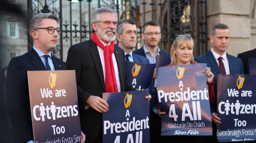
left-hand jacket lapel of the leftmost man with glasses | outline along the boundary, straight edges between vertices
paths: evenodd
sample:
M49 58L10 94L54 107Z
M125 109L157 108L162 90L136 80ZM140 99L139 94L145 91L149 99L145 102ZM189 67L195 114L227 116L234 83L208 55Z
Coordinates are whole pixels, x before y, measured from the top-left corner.
M31 51L29 51L28 56L31 58L31 63L36 67L38 71L45 71L45 65L43 65L43 62L39 55L36 53L36 51L31 48Z

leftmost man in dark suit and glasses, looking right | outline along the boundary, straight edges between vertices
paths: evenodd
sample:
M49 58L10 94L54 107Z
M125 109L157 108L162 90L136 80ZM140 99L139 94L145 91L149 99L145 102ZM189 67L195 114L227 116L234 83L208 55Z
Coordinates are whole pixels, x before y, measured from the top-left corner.
M27 71L67 69L65 62L50 53L56 48L58 35L61 32L58 28L58 21L57 16L53 14L33 16L29 23L33 48L24 55L12 58L9 62L6 76L6 95L13 143L34 142Z

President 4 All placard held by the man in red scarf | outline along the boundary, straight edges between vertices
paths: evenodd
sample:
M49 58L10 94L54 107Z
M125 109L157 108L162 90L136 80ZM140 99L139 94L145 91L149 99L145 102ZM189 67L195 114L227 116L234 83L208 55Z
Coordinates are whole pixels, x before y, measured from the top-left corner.
M149 90L103 93L103 143L149 143Z

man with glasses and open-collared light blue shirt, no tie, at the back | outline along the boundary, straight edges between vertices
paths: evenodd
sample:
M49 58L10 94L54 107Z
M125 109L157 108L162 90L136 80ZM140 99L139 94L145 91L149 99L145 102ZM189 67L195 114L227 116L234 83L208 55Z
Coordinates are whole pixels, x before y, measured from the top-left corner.
M156 63L156 55L170 55L170 53L162 50L158 46L161 39L161 27L159 24L155 23L154 21L148 21L142 26L141 30L141 37L145 41L145 44L142 48L133 51L134 54L146 57L149 60L150 64ZM153 108L157 108L157 99L155 98L152 100L155 101ZM159 118L157 113L154 113L154 111L152 110L149 120L150 143L159 143L159 141L161 142L161 118Z

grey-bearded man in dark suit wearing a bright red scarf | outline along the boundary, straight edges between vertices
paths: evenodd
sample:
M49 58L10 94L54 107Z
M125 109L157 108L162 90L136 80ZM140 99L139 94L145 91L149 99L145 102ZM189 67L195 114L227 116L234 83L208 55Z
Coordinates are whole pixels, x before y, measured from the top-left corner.
M114 44L116 12L109 7L98 8L93 12L90 24L93 28L91 39L71 46L66 63L69 69L76 70L76 82L87 92L86 96L78 98L86 143L102 143L102 113L109 107L102 99L102 93L135 89L126 82L124 52Z

